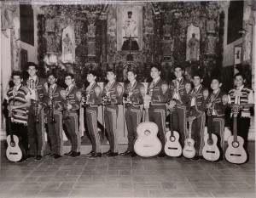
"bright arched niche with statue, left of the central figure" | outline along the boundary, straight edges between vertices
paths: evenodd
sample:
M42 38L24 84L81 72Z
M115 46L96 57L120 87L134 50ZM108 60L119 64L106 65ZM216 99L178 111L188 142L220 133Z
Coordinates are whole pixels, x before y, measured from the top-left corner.
M75 62L75 40L73 27L68 25L62 32L62 62Z

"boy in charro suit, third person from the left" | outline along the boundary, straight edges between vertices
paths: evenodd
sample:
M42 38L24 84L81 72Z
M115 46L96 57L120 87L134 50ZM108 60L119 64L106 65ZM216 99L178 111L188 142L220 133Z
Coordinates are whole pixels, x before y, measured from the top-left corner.
M62 110L64 109L66 91L56 84L57 75L54 72L49 72L47 79L49 88L46 87L47 92L42 106L47 115L51 153L46 156L58 159L63 155Z

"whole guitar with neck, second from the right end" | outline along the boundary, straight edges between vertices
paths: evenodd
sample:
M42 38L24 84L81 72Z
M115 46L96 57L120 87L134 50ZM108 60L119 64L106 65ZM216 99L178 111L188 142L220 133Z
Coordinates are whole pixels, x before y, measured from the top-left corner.
M212 109L208 109L208 133L204 136L202 155L207 161L218 161L220 152L217 146L218 138L212 133Z

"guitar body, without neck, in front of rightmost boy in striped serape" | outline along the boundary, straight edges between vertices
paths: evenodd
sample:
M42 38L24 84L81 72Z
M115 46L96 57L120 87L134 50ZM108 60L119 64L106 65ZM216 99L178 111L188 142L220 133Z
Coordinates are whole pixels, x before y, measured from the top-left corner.
M241 136L237 136L237 141L232 135L228 139L228 148L225 152L225 158L230 163L242 164L247 161L247 153L243 148L244 140Z

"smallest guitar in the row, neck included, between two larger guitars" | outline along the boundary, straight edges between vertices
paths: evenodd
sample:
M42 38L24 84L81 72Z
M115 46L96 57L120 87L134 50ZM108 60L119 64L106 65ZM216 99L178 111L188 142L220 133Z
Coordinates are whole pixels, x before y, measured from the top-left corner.
M189 121L189 138L185 139L183 148L183 156L189 159L195 156L195 140L191 138L192 123L193 121Z

